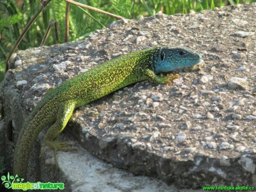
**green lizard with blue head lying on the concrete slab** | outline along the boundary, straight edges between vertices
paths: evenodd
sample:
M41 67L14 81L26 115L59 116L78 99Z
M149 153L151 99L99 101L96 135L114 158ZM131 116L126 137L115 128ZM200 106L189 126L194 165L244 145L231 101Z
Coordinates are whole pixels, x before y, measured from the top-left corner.
M138 81L168 84L179 76L156 74L190 67L201 61L201 56L190 48L156 47L117 57L53 88L46 93L22 126L14 150L13 174L18 174L19 178L27 177L31 147L47 125L51 127L44 137L41 155L45 146L50 147L55 151L57 165L57 150L70 149L67 149L67 144L56 142L55 139L67 125L76 107Z

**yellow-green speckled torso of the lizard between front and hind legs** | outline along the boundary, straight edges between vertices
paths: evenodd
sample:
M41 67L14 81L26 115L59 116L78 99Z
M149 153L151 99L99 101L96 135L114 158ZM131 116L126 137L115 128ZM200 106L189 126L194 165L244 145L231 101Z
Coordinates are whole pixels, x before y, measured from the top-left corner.
M151 52L154 51L132 52L86 71L63 83L67 92L62 92L62 95L66 98L67 94L72 94L81 100L81 105L85 105L131 83L145 80L144 70L150 67Z

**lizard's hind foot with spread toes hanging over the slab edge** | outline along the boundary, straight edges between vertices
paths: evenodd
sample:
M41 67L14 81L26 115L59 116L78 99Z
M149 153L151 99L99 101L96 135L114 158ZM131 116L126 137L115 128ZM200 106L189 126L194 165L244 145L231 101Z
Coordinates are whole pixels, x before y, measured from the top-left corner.
M45 151L45 147L48 146L51 149L54 150L54 159L55 159L55 165L58 168L57 163L57 151L77 151L76 147L72 147L71 144L68 144L66 142L56 142L56 141L45 141L43 146L41 147L40 156L42 156L43 152Z

